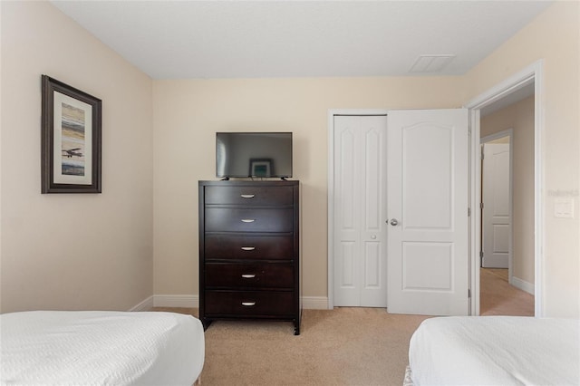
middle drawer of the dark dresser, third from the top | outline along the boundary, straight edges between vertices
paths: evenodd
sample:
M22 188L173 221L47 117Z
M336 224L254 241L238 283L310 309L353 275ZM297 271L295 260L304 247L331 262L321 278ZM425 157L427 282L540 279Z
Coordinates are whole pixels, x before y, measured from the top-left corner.
M292 236L206 235L205 256L211 259L292 260Z

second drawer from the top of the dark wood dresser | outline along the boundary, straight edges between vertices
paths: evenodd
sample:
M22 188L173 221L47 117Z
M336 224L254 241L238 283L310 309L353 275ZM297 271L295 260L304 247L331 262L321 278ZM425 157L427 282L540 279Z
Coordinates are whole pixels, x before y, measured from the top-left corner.
M206 232L292 232L293 209L206 207Z

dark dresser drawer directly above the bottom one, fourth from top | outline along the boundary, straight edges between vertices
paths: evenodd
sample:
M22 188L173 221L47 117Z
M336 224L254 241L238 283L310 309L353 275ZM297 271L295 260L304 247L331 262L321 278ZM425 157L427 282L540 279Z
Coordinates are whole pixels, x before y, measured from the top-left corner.
M206 286L292 288L291 264L206 264Z

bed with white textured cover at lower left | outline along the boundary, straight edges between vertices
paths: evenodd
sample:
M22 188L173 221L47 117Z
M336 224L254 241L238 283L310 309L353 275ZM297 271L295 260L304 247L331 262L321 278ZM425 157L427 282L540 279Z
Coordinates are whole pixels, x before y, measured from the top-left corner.
M0 315L2 385L192 385L203 327L191 315L34 311Z

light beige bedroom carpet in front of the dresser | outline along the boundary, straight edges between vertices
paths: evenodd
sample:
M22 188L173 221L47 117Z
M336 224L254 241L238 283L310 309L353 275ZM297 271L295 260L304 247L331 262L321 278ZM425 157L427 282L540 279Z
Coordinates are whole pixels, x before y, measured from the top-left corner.
M201 385L401 386L411 334L426 318L383 308L304 310L298 336L287 322L214 322Z

